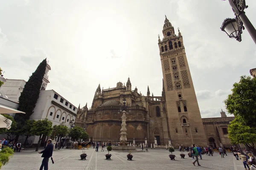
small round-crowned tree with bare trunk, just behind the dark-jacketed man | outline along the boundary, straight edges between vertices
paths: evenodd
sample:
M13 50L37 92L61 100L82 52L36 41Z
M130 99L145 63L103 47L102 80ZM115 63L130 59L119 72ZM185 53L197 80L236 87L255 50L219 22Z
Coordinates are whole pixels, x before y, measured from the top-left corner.
M35 151L38 151L42 136L49 136L50 134L52 134L52 130L52 122L48 119L38 120L33 123L32 134L39 136L38 145L36 146Z

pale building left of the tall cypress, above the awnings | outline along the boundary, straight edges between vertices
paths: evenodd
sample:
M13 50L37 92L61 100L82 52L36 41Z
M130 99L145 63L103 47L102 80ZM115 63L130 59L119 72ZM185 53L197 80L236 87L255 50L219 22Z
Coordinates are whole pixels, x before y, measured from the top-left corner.
M25 84L26 81L23 79L6 79L0 87L0 93L5 94L9 100L18 102Z

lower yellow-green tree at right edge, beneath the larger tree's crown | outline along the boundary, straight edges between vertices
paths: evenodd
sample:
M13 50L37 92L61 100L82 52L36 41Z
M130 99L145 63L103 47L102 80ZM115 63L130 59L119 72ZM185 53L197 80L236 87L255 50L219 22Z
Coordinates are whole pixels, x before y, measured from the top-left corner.
M228 138L233 144L247 145L255 154L256 128L245 125L241 117L236 117L228 125Z

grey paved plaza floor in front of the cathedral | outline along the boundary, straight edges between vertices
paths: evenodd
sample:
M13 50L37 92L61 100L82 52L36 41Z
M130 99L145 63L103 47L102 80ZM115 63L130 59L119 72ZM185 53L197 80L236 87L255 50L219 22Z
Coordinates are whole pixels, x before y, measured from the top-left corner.
M106 148L105 148L106 149ZM80 160L79 154L82 150L62 149L53 151L54 164L49 160L49 170L185 170L185 169L211 169L211 170L243 170L241 160L236 160L232 153L227 153L221 158L219 153L213 156L203 155L199 159L201 167L192 164L193 159L189 158L187 152L185 159L180 158L180 152L175 151L177 158L173 161L169 158L168 150L148 149L147 152L132 153L134 158L128 161L127 152L111 151L111 160L105 159L108 151L96 152L93 147L87 153L86 160ZM139 149L137 149L139 150ZM41 165L41 154L34 149L23 150L15 153L9 163L3 166L2 170L38 170Z

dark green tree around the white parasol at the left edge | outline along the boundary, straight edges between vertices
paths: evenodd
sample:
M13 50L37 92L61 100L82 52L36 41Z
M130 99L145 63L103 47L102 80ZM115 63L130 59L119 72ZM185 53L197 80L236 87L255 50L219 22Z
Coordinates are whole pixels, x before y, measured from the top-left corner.
M6 128L0 128L0 134L6 134L7 135L6 139L9 142L12 142L15 139L13 135L17 133L17 122L15 122L13 117L9 116L8 114L2 114L2 115L5 116L7 119L10 119L12 121L12 125L9 130Z

